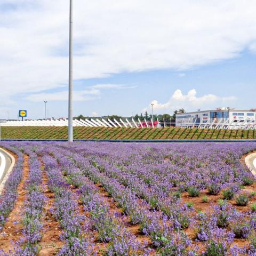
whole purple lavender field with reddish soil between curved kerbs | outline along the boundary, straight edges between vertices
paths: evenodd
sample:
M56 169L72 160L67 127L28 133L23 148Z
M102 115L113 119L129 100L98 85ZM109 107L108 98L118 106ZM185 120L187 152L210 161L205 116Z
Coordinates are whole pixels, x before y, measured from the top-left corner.
M254 142L0 146L0 255L256 255Z

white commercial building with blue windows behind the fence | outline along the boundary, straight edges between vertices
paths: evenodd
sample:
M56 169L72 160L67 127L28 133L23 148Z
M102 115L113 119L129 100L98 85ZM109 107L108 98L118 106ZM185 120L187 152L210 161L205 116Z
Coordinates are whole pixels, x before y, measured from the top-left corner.
M256 125L256 109L217 108L176 114L176 126L214 129L250 129Z

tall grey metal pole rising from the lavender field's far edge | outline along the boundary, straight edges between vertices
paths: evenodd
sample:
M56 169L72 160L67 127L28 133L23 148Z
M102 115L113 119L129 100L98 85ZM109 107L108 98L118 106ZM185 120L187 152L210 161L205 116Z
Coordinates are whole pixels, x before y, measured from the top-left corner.
M73 142L73 0L69 9L68 141Z

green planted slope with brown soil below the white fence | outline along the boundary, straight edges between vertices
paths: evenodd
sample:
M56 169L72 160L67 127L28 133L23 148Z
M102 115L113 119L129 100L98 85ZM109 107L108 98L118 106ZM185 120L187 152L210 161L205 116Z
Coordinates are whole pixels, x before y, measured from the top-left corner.
M2 139L67 139L68 127L2 127ZM183 128L74 127L74 139L154 140L154 139L256 139L254 130L210 130Z

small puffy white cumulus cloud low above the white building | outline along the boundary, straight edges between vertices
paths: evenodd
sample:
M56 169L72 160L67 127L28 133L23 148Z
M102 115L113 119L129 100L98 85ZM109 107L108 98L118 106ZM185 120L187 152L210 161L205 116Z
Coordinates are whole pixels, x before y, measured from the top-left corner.
M187 111L195 110L195 109L205 109L205 108L216 108L227 105L230 102L236 100L236 97L220 97L214 94L206 94L201 97L196 96L196 90L190 90L187 94L183 94L181 90L176 90L169 101L166 103L160 103L157 100L153 100L150 102L149 106L144 108L142 112L150 111L151 103L153 103L153 109L155 113L161 114L164 112L171 112L176 109L184 108ZM226 106L227 107L227 106Z

